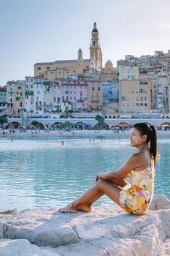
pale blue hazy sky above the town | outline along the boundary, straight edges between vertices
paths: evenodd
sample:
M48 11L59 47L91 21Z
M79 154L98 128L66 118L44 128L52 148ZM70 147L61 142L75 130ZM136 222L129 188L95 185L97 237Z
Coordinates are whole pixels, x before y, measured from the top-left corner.
M34 64L89 59L96 21L103 66L126 54L170 49L170 0L0 0L0 86L34 75Z

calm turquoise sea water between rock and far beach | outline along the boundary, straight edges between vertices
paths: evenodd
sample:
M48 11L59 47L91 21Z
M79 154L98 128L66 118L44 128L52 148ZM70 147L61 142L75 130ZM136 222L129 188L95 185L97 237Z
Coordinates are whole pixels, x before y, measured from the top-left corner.
M0 211L61 207L95 183L99 172L115 170L135 152L128 140L63 139L55 136L0 138ZM155 193L170 199L170 139L159 140ZM114 205L101 197L98 205Z

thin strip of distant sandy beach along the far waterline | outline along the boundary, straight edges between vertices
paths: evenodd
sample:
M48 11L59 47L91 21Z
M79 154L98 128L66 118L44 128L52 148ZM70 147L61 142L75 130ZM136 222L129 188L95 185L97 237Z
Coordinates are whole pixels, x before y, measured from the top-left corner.
M28 130L27 132L19 132L18 130L15 133L7 133L3 134L3 131L0 130L1 138L15 138L16 136L28 136L28 137L47 137L47 136L55 136L60 138L129 138L130 130L123 132L113 132L112 130L74 130L74 131L51 131L45 132L41 130L40 132L33 132ZM158 138L170 138L170 131L158 131Z

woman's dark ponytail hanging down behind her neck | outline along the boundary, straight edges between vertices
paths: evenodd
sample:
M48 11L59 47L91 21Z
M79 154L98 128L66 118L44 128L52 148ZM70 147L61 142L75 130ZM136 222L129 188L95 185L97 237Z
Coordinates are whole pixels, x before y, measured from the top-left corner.
M156 155L158 152L157 145L157 132L153 125L150 125L151 134L150 134L150 154L154 159L154 165L156 164Z

